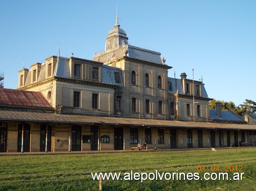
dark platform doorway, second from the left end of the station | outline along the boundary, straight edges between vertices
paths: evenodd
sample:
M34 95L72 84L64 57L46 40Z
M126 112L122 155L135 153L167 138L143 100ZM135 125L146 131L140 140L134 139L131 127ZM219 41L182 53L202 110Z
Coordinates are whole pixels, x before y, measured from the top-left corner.
M30 152L30 124L18 125L18 152L21 152L23 125L23 152Z

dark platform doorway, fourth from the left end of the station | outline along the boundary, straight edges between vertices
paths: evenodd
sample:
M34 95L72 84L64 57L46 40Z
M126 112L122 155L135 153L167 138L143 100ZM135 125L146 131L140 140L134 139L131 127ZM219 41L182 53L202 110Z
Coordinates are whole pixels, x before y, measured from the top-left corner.
M72 125L71 150L81 151L81 126Z

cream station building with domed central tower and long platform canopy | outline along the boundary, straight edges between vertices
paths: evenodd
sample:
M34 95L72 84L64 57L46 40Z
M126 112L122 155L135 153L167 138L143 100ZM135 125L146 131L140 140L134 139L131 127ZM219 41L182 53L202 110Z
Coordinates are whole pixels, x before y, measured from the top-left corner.
M31 110L17 93L21 103L8 106L2 96L0 152L126 150L138 142L226 147L235 145L236 132L254 144L254 126L209 123L202 81L168 77L165 62L159 52L129 45L116 18L93 60L50 56L20 70L17 91L39 93L49 105Z

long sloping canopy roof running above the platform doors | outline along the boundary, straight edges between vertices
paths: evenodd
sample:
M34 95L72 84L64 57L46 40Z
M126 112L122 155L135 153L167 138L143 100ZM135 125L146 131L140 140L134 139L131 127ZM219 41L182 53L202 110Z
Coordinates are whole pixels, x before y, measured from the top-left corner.
M113 125L113 126L133 126L133 127L185 127L185 128L207 128L207 129L241 129L256 130L254 125L243 124L217 124L205 122L184 122L153 120L139 118L120 118L120 117L101 117L101 116L83 116L83 115L64 115L54 113L40 113L27 111L1 111L1 121L26 121L26 122L56 122L71 124L90 124L90 125Z

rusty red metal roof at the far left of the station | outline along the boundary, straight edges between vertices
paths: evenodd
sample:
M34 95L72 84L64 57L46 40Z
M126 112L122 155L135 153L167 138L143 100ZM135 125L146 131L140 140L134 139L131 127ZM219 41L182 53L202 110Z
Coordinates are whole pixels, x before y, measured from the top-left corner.
M41 92L0 88L0 105L52 107Z

